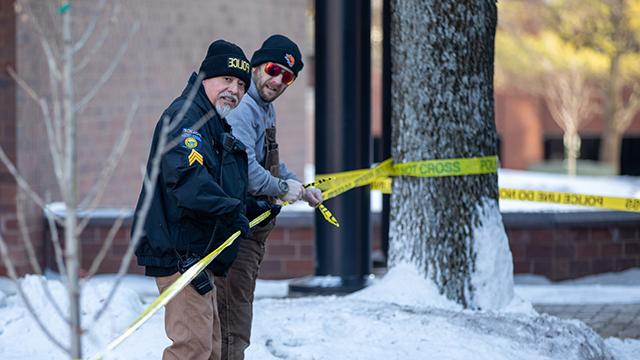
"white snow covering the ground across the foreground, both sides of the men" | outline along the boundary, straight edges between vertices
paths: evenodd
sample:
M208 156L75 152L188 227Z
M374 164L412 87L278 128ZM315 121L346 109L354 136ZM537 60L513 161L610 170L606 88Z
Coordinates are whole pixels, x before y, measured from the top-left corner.
M543 278L516 277L517 296L512 304L502 311L486 312L461 310L410 266L396 267L370 287L343 297L277 298L287 295L286 281L259 281L247 359L637 360L640 341L603 340L580 321L539 315L528 300L538 302L541 298L536 294L528 298L532 292L522 291L537 286L541 293L546 292L544 297L549 297L557 289L583 287L595 291L594 284L614 281L627 285L615 285L618 288L606 300L620 302L630 293L637 293L637 274L640 269L575 280L573 284L543 285L531 285L548 282ZM85 285L85 324L104 301L112 280L113 276L100 276ZM22 284L33 299L38 317L57 339L64 341L67 328L46 300L42 278L27 276ZM65 309L62 285L57 280L47 280L46 284ZM3 281L0 285L0 358L64 359L37 327L15 289ZM155 292L151 279L128 276L109 310L87 337L85 355L94 354L119 335L151 302ZM568 302L588 298L586 293L576 298L567 295L569 292L560 293L569 297ZM559 295L556 298L567 302ZM159 359L169 343L163 326L160 311L109 358Z

